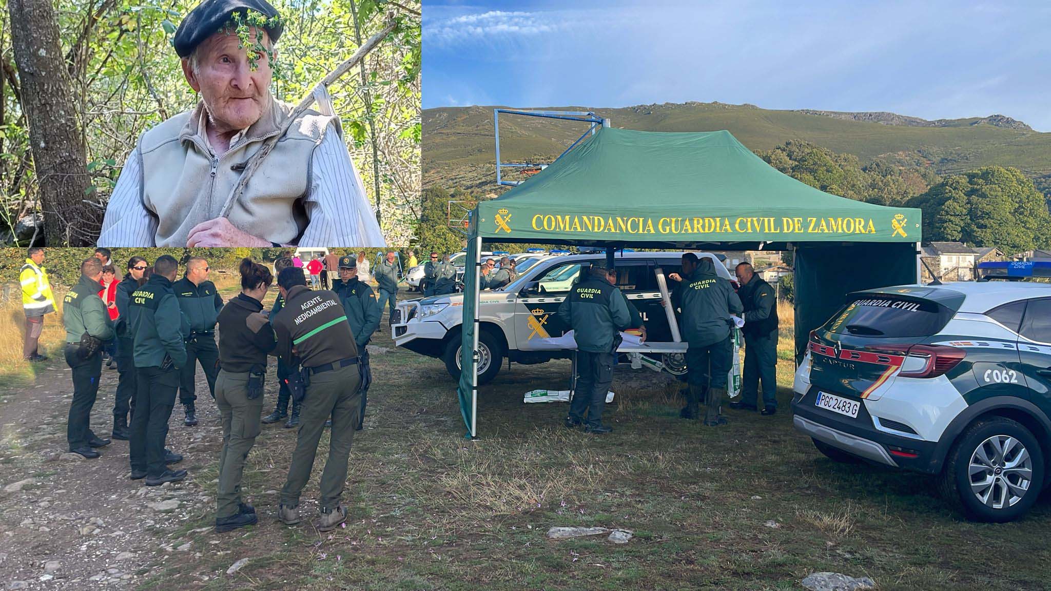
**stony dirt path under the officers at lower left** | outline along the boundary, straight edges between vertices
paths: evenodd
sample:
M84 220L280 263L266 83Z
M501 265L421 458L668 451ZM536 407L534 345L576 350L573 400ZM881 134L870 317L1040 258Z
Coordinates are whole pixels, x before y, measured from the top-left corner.
M65 452L70 371L61 360L46 363L35 387L0 404L0 588L133 588L161 561L190 551L167 533L213 509L199 480L214 461L204 442L222 439L219 412L199 368L200 425L184 426L177 403L168 432L189 476L146 487L128 478L128 442L115 440L98 460ZM91 413L100 436L112 428L116 387L116 365L103 367Z

